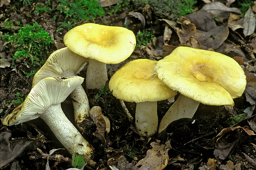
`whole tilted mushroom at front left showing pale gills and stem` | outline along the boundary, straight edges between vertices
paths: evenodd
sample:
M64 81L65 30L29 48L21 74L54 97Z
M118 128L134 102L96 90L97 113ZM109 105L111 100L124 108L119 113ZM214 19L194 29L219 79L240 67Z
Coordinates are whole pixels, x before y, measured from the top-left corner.
M5 117L3 124L17 125L40 117L70 154L78 152L91 157L94 148L67 119L60 106L83 80L82 77L44 78L31 89L21 105Z

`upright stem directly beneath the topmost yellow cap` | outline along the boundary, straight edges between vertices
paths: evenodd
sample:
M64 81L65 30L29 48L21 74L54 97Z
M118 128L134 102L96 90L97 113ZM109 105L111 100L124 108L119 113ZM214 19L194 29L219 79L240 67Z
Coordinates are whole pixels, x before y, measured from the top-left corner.
M108 80L107 64L89 59L86 71L86 88L100 89Z

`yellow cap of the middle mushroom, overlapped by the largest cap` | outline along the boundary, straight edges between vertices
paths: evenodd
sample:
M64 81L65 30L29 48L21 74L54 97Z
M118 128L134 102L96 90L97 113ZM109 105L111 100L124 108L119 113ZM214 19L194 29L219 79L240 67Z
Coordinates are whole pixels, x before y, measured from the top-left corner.
M156 76L155 60L137 59L117 70L109 81L113 95L127 102L155 102L177 94Z

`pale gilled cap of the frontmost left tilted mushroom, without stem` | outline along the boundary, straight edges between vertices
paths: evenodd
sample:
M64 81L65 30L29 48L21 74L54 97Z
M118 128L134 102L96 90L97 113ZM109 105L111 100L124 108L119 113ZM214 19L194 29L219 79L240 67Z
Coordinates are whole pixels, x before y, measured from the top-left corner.
M47 77L37 83L25 101L3 120L7 126L17 125L38 118L52 104L60 104L67 96L82 84L84 78L67 79Z

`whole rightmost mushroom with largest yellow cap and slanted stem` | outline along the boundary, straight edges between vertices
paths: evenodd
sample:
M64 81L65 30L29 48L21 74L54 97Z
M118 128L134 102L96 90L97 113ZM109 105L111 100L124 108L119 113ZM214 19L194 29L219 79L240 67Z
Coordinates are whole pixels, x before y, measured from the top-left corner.
M246 76L232 58L213 51L177 47L155 66L159 79L180 93L162 118L158 132L174 120L192 118L199 103L234 106L246 86Z

